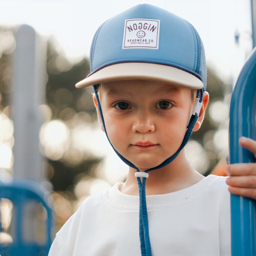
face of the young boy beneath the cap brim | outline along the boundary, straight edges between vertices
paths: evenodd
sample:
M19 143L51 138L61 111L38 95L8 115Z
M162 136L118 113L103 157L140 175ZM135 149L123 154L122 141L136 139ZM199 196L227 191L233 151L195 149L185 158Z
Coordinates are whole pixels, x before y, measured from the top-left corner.
M99 98L111 144L140 171L181 146L193 108L191 89L124 80L103 84Z

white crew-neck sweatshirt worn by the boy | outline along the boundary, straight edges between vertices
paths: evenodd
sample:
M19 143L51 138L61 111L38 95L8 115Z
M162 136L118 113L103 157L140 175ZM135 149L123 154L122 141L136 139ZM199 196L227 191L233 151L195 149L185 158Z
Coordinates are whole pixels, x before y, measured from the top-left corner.
M139 197L122 194L120 185L88 197L56 234L49 256L140 256ZM146 200L152 256L231 255L224 177Z

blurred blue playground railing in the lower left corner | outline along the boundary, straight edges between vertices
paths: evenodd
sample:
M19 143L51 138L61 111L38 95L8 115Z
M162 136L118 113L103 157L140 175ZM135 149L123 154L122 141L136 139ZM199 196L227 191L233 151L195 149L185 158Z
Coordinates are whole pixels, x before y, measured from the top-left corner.
M11 183L0 183L0 198L5 198L12 203L12 222L13 227L11 229L12 242L0 243L0 255L1 256L47 256L51 244L51 227L52 227L52 210L48 203L48 192L41 187L38 183L31 180L14 179ZM32 222L34 229L34 237L28 239L25 237L24 219L27 217L26 207L32 204L35 208L40 206L40 212L46 213L45 222L43 223L44 234L40 234L44 237L42 241L35 241L35 237L39 229L35 229L37 225ZM30 220L35 219L37 221L37 211L34 212L34 216L29 215ZM1 226L1 223L0 223Z

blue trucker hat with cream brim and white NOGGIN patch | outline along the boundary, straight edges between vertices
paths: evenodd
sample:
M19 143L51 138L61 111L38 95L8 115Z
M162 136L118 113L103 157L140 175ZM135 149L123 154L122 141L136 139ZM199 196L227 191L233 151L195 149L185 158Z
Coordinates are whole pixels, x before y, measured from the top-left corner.
M90 52L91 73L77 88L128 79L206 89L204 46L186 20L139 4L103 23Z

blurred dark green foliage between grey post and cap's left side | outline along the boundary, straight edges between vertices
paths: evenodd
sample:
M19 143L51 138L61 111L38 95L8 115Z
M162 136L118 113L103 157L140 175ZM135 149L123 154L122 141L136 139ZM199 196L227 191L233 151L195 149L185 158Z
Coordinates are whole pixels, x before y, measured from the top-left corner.
M87 59L72 64L54 49L53 43L48 41L46 98L52 110L52 119L59 119L61 111L66 108L76 112L85 111L94 116L95 110L89 90L77 90L74 87L75 83L83 79L89 71Z

